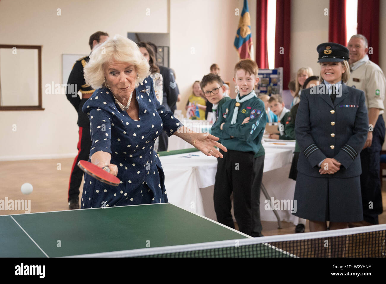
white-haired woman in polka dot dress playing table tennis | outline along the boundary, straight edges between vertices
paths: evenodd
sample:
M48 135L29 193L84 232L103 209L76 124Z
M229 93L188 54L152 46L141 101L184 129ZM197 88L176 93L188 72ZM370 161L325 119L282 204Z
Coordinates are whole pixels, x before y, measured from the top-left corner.
M137 44L115 36L97 46L85 66L86 83L96 88L84 104L90 119L89 162L121 180L117 187L85 174L81 208L168 202L154 141L161 131L184 139L207 156L227 151L217 137L194 133L166 111L154 94L149 64Z

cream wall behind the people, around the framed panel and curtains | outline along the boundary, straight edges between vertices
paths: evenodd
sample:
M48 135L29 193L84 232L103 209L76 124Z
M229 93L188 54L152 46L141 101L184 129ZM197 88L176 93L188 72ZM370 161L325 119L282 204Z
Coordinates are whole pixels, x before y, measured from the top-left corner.
M87 54L95 31L170 33L170 65L176 71L183 108L191 85L220 65L231 81L238 60L233 46L242 0L1 0L0 44L42 45L44 111L0 111L0 160L56 158L76 155L77 115L65 95L46 95L46 83L61 83L61 54ZM248 0L252 39L256 46L256 1ZM57 9L61 9L61 16ZM146 9L150 15L146 16ZM292 0L291 78L301 66L319 72L316 46L328 41L328 0ZM15 20L17 15L17 20ZM381 1L380 34L386 31L386 3ZM380 37L380 46L386 39ZM194 50L192 49L194 48ZM194 53L192 53L194 51ZM380 52L381 68L386 56ZM22 79L20 79L22 80ZM234 96L234 93L231 93ZM16 124L17 131L12 131Z

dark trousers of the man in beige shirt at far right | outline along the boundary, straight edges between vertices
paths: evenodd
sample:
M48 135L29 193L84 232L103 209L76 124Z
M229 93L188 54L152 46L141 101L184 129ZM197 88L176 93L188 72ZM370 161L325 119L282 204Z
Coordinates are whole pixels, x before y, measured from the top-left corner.
M378 224L378 214L383 212L379 158L384 136L385 125L380 115L373 129L371 147L361 151L363 219L372 224Z

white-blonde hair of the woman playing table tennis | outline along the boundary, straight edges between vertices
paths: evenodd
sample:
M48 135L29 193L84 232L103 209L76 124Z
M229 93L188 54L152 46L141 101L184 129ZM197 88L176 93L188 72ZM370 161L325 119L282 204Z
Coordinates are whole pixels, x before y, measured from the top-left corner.
M105 82L103 67L106 63L113 60L127 62L135 66L138 77L135 80L135 87L138 87L147 76L150 75L149 63L139 51L139 47L134 41L127 37L115 35L102 44L98 44L90 54L90 61L84 68L86 83L92 88L99 88Z

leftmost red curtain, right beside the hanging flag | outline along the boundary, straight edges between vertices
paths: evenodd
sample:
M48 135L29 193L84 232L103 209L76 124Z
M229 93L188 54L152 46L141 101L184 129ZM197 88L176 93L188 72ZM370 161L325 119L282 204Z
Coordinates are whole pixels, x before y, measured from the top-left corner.
M256 11L256 63L259 68L268 68L267 52L268 0L257 0Z

